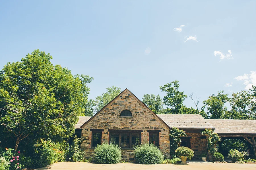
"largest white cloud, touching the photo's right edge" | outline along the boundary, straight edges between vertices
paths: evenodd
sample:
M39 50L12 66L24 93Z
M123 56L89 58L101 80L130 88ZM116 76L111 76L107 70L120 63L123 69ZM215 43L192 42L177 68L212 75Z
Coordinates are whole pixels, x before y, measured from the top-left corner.
M252 85L256 86L256 71L251 71L250 74L237 76L235 79L238 81L243 81L245 89L249 90L250 88L252 88Z

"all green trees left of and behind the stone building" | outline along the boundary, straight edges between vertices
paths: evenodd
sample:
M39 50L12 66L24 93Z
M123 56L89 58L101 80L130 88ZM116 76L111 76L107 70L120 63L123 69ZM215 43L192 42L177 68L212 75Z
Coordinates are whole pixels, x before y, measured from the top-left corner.
M5 147L18 148L20 141L38 139L62 141L74 134L79 116L92 116L115 98L121 88L112 86L95 100L88 99L93 80L88 75L72 75L52 56L34 50L21 61L7 63L0 71L0 141ZM208 119L255 119L256 87L250 91L212 94L199 108L199 99L179 90L178 81L160 86L165 93L145 94L142 101L156 114L200 114ZM189 97L195 108L183 102ZM232 109L228 110L226 103ZM164 105L167 107L164 109Z

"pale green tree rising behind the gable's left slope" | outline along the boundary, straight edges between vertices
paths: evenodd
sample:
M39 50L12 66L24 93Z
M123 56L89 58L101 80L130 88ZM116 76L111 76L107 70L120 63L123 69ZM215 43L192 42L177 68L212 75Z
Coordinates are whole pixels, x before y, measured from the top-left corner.
M96 97L96 110L100 111L106 104L121 93L121 88L112 86L106 88L106 93Z

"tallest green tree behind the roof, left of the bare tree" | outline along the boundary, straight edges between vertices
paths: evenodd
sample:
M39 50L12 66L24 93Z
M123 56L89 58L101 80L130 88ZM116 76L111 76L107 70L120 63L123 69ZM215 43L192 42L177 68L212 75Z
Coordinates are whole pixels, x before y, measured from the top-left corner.
M181 107L183 106L183 101L187 97L184 92L179 91L179 84L178 81L175 80L164 86L160 86L160 90L162 92L166 92L164 96L164 104L170 106L171 114L182 114Z

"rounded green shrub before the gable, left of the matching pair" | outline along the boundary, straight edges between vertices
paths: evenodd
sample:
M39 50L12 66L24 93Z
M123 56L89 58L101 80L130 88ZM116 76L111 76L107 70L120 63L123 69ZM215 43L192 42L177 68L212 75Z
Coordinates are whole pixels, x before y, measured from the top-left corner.
M103 143L94 149L93 161L101 164L119 163L121 161L121 148L118 145Z

